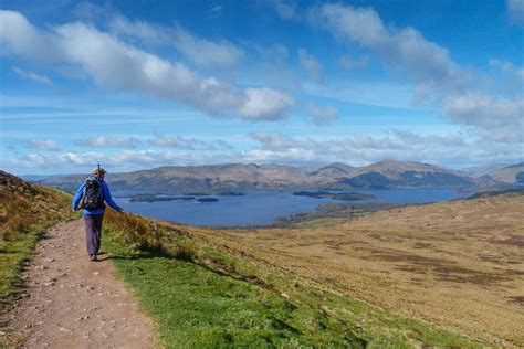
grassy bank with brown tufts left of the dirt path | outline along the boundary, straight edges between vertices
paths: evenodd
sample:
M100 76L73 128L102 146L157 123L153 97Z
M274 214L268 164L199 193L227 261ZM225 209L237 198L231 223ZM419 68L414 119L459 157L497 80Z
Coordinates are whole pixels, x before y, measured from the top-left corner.
M23 286L20 268L53 223L70 219L71 198L0 171L0 311Z

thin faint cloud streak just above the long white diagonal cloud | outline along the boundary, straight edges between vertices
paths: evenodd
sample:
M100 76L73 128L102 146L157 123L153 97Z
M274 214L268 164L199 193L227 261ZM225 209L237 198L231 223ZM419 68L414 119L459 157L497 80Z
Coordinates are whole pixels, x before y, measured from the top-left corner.
M232 43L199 38L180 25L174 28L130 21L123 15L115 17L109 27L119 34L138 38L147 43L171 46L184 53L195 64L212 67L228 66L240 62L244 52Z

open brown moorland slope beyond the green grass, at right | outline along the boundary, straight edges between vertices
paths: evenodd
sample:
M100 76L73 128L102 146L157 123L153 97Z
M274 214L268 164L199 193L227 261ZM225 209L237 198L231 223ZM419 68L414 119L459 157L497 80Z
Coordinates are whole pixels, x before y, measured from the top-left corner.
M348 297L523 347L523 213L512 193L295 229L185 229Z

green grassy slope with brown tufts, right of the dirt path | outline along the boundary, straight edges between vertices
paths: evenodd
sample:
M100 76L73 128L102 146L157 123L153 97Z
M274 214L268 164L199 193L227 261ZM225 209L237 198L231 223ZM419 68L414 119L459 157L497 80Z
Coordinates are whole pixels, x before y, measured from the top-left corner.
M147 221L140 225L139 218L125 218L119 224L117 220L109 219L105 248L167 348L485 347L336 295L179 228L150 222L156 237L145 233L149 236L140 239L149 243L142 241L137 248L126 237L125 221L143 232Z

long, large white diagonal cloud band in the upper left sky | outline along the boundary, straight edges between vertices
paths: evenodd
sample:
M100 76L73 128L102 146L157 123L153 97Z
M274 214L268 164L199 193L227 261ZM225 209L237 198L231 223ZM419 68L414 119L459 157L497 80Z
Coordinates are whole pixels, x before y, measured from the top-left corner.
M252 121L280 119L294 104L293 97L282 91L241 89L214 77L202 77L182 63L171 63L84 23L62 24L42 34L11 11L0 12L0 40L11 52L35 61L41 57L39 50L60 52L62 63L80 67L102 88L138 92L213 116L235 115ZM18 33L14 39L20 41L10 33ZM40 44L42 38L48 46L35 50L32 44Z

